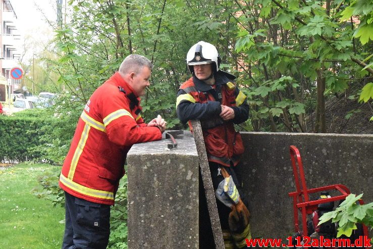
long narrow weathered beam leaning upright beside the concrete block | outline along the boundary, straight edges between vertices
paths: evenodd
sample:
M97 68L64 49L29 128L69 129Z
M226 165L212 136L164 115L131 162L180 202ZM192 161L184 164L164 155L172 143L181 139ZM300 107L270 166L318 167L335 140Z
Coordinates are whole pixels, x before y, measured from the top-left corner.
M191 122L194 141L198 153L199 170L201 171L202 175L203 187L207 201L207 209L210 216L212 234L214 234L215 246L217 249L224 249L223 233L220 226L218 208L215 199L215 191L214 187L212 187L212 180L207 161L206 147L203 141L201 124L199 120L191 120Z

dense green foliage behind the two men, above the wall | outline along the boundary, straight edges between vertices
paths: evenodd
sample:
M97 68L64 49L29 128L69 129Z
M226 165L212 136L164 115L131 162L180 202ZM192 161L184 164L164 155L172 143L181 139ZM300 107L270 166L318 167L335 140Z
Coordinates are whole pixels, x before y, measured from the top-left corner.
M217 46L222 68L238 76L248 96L251 116L243 129L373 130L371 0L76 0L69 5L71 21L56 26L59 59L48 62L60 76L57 85L82 104L123 58L137 53L155 66L143 116L161 114L170 128L183 128L175 94L190 77L186 52L205 40ZM355 105L365 85L362 103ZM349 121L360 129L351 130Z

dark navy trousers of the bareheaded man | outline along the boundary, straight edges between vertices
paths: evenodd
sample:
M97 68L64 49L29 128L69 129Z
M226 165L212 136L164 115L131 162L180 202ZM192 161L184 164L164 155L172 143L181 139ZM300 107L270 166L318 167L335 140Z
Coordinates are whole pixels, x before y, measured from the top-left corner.
M105 249L110 235L110 205L97 204L65 191L62 249Z

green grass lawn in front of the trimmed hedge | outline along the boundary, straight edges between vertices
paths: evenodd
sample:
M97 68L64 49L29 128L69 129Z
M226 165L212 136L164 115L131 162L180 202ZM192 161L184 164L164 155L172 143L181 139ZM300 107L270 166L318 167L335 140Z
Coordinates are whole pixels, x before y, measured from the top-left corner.
M63 207L37 198L37 177L56 166L19 164L0 169L0 249L61 248Z

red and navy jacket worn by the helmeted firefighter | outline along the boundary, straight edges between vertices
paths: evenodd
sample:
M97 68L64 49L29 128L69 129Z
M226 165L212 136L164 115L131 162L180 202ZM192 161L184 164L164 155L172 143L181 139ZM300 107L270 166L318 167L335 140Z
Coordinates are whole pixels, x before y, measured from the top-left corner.
M218 71L215 85L210 86L194 76L180 86L176 100L181 122L200 120L208 161L227 167L236 166L238 156L244 152L241 135L233 124L246 121L249 112L246 95L232 82L233 79L233 75ZM221 105L234 110L233 120L220 118ZM189 126L192 130L190 123Z

